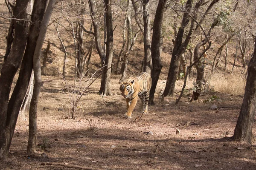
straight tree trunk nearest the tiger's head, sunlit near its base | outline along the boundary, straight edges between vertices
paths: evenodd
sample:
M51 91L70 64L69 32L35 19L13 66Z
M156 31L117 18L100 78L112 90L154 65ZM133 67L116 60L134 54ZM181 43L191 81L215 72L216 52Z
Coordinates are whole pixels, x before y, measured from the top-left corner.
M106 14L106 26L107 26L107 42L106 42L106 61L103 68L102 81L100 85L100 95L111 95L110 90L110 77L111 77L111 65L113 59L113 25L112 25L112 0L105 0L105 14Z

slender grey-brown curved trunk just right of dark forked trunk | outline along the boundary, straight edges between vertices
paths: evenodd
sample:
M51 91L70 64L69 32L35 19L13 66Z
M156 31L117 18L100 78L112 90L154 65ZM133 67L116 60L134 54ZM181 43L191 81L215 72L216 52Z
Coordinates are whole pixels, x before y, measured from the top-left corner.
M37 134L37 104L41 88L41 49L44 43L44 37L47 31L47 26L52 15L53 8L56 0L49 0L44 19L42 20L39 36L35 46L35 52L33 55L33 69L35 76L35 86L33 89L32 100L29 108L29 141L27 152L34 154L36 151L36 134Z

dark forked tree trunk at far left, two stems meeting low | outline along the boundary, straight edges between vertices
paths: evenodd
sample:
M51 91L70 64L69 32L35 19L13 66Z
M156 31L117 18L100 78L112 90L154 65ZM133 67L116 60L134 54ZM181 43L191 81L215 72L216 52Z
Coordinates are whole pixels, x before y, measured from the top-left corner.
M28 1L17 0L16 6L14 8L14 16L18 19L24 19L26 17L26 7ZM0 76L0 86L4 85L5 88L0 87L1 102L0 102L0 159L6 158L9 147L11 144L12 136L14 133L18 113L20 111L20 106L26 95L26 91L29 85L29 80L32 73L32 56L34 54L36 41L38 38L39 28L41 25L40 16L44 14L44 7L46 5L46 0L36 1L32 12L32 24L29 28L29 37L26 44L26 24L23 21L14 21L15 38L13 41L13 46L6 62L3 65L1 76ZM41 15L42 14L42 15ZM26 51L24 57L24 48L26 45ZM20 65L20 60L23 57L19 77L15 85L14 91L12 93L11 99L9 100L9 90L12 83L13 76L15 75L17 68ZM16 65L10 65L9 62L16 63ZM4 81L3 81L4 80ZM7 89L6 89L7 88ZM5 93L3 93L3 91ZM6 98L5 98L6 97ZM6 101L5 101L6 100ZM8 104L8 109L7 105Z

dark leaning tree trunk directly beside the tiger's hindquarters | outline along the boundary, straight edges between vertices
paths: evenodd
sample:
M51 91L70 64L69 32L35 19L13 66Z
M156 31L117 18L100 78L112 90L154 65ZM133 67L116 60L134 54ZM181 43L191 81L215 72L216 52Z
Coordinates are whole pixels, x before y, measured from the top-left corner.
M151 90L149 93L149 105L154 105L154 93L157 87L157 81L159 79L163 64L161 62L160 56L160 46L161 43L161 29L163 24L163 14L165 11L167 0L160 0L157 6L156 15L154 18L153 24L153 35L152 35L152 45L151 45L151 52L152 52L152 71L151 71L151 78L152 78L152 85Z

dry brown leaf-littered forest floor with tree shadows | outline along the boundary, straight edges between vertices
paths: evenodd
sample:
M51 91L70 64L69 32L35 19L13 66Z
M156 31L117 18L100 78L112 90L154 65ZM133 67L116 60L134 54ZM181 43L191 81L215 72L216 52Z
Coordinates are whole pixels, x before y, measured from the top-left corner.
M70 97L76 94L63 92L66 85L58 77L44 76L38 103L38 153L26 154L29 122L19 121L9 159L0 161L0 169L255 170L256 146L230 139L243 96L209 92L193 102L183 96L175 105L177 96L160 102L156 94L156 105L134 122L141 115L140 102L132 118L126 119L118 80L111 79L112 96L99 96L100 79L96 80L82 96L76 119L67 119ZM164 82L159 81L157 91ZM203 102L212 96L219 99ZM211 109L212 105L218 108Z

